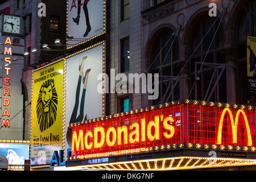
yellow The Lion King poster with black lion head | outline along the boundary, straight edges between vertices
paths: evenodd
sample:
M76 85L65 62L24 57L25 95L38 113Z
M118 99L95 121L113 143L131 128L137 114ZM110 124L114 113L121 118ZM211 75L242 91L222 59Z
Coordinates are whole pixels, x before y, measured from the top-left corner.
M33 73L31 165L50 164L63 138L64 61Z

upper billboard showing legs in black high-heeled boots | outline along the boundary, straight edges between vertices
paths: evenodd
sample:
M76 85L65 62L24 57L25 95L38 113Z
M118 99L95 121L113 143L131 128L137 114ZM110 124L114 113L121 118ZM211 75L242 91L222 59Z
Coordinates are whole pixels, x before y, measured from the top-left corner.
M67 1L67 48L105 34L105 0Z

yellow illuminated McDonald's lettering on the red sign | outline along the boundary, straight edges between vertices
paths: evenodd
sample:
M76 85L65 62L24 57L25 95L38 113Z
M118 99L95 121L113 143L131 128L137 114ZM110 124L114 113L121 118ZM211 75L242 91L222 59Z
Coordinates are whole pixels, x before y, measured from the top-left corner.
M172 125L176 120L174 117L166 115L156 115L154 120L149 121L142 118L141 122L133 122L131 125L119 127L104 126L94 127L93 131L79 130L73 131L72 151L93 150L94 148L104 148L121 146L126 144L136 144L140 142L153 142L162 138L174 138L177 127Z

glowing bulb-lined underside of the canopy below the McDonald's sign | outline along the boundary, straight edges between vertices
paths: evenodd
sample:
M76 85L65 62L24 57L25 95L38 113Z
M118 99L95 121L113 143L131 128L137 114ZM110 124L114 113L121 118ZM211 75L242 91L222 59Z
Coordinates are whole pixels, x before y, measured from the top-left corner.
M179 170L216 167L234 167L256 165L255 159L234 158L202 158L180 156L174 158L135 160L117 163L92 164L86 166L68 167L69 169L89 170Z

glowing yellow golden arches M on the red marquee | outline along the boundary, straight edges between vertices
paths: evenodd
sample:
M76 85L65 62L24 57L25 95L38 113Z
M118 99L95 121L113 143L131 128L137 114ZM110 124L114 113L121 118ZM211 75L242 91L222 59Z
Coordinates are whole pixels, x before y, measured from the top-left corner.
M251 139L251 131L247 115L243 109L239 109L235 113L235 119L233 117L232 111L229 108L222 109L221 114L218 117L217 129L216 129L216 144L222 143L222 127L226 113L228 113L228 125L230 132L230 142L237 143L237 129L239 116L242 114L242 122L245 133L246 146L252 146L253 140Z

